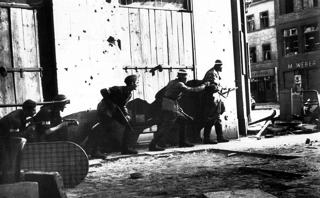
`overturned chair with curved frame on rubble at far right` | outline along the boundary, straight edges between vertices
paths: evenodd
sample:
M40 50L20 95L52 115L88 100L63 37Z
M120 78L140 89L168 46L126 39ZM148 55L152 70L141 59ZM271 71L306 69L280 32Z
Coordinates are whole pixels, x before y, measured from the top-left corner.
M306 90L300 93L302 103L301 116L303 123L311 124L320 118L319 94L316 90ZM309 118L309 119L306 119Z

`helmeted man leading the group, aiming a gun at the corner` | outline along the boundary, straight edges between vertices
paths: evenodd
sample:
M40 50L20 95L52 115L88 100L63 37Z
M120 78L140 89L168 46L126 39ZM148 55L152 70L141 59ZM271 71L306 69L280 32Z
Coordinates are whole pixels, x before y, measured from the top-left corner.
M219 76L219 72L221 71L222 62L220 60L216 60L214 66L207 71L203 78L203 82L211 83L211 85L206 87L204 92L202 92L202 114L199 117L201 127L204 128L204 144L229 142L227 138L223 137L220 119L220 114L225 111L224 105L221 103L220 95L218 93L222 89L220 86L221 77ZM217 141L210 139L212 126L215 128Z

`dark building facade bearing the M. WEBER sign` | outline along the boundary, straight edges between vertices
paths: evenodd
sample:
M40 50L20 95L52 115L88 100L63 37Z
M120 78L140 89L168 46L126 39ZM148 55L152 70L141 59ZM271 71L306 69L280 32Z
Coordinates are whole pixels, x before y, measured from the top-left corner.
M319 0L275 0L280 89L320 91L319 5Z

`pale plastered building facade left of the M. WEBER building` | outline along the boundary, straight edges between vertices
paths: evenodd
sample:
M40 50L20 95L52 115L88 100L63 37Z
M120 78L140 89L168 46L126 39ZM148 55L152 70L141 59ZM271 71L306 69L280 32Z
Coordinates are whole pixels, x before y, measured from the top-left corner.
M256 103L279 101L274 0L255 0L246 14L251 96Z

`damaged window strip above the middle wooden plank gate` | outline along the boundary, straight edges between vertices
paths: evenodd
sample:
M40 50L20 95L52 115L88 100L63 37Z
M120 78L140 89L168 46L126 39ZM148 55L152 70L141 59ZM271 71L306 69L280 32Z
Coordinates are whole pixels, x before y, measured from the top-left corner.
M191 0L119 0L120 5L165 10L191 10Z

